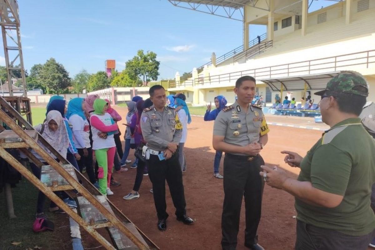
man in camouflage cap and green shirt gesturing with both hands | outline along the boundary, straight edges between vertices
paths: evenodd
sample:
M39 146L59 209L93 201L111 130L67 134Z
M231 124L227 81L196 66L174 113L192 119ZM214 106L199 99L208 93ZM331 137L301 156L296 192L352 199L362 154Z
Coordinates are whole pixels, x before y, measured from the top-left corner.
M375 142L359 118L368 87L355 73L332 78L321 96L322 120L330 126L305 157L287 154L299 167L296 179L280 168L262 166L267 184L295 196L296 250L365 250L375 235L370 206L375 182Z

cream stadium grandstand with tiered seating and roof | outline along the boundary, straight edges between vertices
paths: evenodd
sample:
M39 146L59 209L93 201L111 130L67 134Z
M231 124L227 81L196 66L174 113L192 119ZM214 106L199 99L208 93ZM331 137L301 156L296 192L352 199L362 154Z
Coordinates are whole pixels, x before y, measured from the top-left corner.
M340 72L356 71L369 84L375 101L375 1L346 0L309 12L312 0L172 1L176 7L198 10L243 22L243 45L192 71L168 91L184 93L194 106L217 95L235 101L233 88L243 75L257 79L257 93L267 106L276 94L300 102L326 86ZM202 8L202 6L204 8ZM224 11L220 12L220 8ZM224 13L224 14L222 14ZM267 33L249 41L249 25L267 25ZM198 73L199 72L199 73Z

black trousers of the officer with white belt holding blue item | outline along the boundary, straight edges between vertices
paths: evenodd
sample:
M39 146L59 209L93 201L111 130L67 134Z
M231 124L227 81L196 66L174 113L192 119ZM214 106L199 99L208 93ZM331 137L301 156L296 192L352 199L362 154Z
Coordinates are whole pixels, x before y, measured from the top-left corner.
M138 161L141 162L141 160ZM165 202L165 180L169 186L169 192L173 205L176 208L177 217L186 214L186 201L184 195L184 186L182 183L182 171L178 161L178 150L168 160L159 160L159 157L151 154L147 160L148 177L150 177L154 192L154 202L158 219L166 219Z

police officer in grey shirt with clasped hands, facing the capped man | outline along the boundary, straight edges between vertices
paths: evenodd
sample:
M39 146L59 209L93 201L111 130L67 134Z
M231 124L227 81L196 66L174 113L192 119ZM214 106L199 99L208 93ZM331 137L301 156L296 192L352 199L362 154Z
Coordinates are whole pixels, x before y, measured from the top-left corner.
M245 196L245 246L261 250L257 229L264 187L259 171L264 161L259 153L268 141L269 129L262 109L251 105L255 79L240 77L234 93L236 102L222 109L213 128L213 148L225 152L221 245L224 250L236 249L242 197Z

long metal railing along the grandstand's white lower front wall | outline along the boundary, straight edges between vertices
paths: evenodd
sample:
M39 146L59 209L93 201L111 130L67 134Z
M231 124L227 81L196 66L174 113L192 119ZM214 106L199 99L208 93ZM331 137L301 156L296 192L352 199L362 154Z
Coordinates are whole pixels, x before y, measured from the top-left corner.
M350 70L348 69L349 66L363 66L368 68L369 64L372 63L374 63L375 66L375 49L308 61L299 61L296 63L279 64L220 75L199 77L194 79L193 85L235 82L244 75L251 75L255 79L261 80Z

